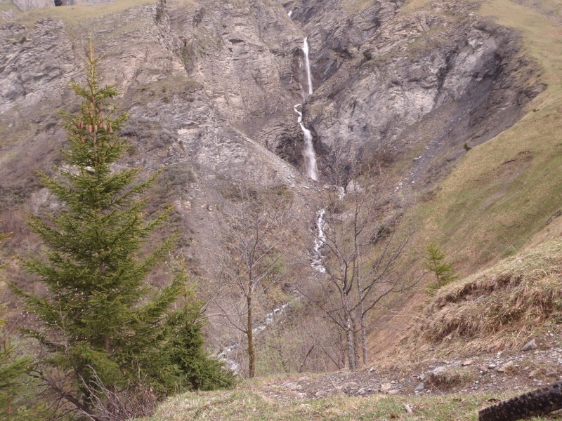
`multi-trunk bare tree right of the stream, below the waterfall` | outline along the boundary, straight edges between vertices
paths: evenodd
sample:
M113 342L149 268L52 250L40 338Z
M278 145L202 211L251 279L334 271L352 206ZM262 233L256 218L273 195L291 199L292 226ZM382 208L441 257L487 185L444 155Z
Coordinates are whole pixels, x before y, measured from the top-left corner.
M362 363L368 363L368 314L386 296L417 283L400 276L400 259L412 232L398 234L397 215L384 215L377 197L384 191L380 172L370 187L358 179L358 173L350 171L346 195L332 194L318 239L325 255L322 273L315 274L319 288L301 290L344 333L351 369L360 363L360 349Z

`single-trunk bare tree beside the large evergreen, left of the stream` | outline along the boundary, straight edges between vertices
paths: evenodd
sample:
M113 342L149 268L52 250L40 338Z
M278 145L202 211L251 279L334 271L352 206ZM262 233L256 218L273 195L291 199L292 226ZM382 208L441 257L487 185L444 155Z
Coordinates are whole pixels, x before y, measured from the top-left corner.
M290 201L283 194L237 186L235 203L225 209L218 234L223 293L215 301L221 316L245 337L248 377L254 377L256 369L254 336L268 323L256 326L260 316L256 312L285 272L280 246L290 232L289 209Z

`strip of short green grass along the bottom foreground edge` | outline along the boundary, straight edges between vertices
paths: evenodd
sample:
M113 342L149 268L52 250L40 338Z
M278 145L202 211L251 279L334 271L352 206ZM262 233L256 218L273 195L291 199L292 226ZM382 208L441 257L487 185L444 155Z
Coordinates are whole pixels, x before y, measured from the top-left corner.
M509 395L513 396L513 394ZM445 396L333 396L283 402L255 392L204 392L174 396L144 421L184 420L478 420L497 394ZM408 414L405 405L412 408ZM551 420L535 417L532 420Z

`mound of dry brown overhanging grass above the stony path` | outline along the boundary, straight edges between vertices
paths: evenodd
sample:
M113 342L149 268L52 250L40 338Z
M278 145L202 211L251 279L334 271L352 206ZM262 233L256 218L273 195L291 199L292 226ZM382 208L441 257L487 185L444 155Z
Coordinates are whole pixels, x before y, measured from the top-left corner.
M471 340L472 351L521 345L545 321L562 321L561 279L562 241L551 241L440 290L419 332L435 345Z

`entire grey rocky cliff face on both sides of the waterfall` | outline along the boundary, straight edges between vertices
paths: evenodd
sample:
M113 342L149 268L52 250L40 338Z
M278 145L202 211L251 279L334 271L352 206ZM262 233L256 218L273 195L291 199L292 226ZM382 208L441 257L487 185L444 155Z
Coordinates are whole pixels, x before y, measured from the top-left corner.
M476 20L464 1L441 1L431 11L408 11L400 2L239 3L176 0L78 24L8 23L0 110L46 104L60 93L66 98L84 41L75 37L91 25L110 58L108 79L131 101L124 104L133 121L148 119L174 133L171 149L201 151L203 142L193 142L199 127L228 127L230 134L215 135L247 136L297 167L303 139L293 106L302 102L301 46L308 36L315 93L304 121L327 180L335 161L355 162L381 149L413 158L425 147L431 154L421 157L429 165L437 154L511 125L540 91L518 54L516 34ZM164 90L169 83L170 91L150 102L137 98L150 83ZM193 155L213 169L232 167L230 158L244 161L240 151L217 161L224 148L213 141L209 147L216 147L211 159Z

